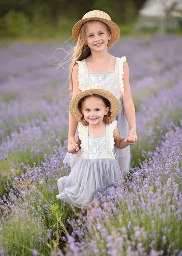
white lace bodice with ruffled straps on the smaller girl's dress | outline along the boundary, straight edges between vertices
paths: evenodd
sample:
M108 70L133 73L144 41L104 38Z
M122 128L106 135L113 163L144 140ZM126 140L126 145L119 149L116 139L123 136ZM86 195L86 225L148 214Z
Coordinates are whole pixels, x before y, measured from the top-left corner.
M83 126L79 123L78 135L81 140L82 158L115 158L114 154L114 136L113 131L117 126L117 121L114 120L110 125L105 127L105 135L103 136L88 136L88 126Z

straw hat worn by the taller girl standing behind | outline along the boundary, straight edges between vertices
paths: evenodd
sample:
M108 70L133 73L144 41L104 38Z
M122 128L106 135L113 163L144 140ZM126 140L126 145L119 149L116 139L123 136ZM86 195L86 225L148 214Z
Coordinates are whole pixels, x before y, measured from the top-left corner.
M116 23L111 21L111 17L102 11L91 11L87 12L82 20L79 20L72 29L72 35L75 41L78 40L78 36L80 33L81 26L87 22L88 20L100 20L107 24L111 29L111 39L108 41L108 47L114 45L120 38L120 29Z

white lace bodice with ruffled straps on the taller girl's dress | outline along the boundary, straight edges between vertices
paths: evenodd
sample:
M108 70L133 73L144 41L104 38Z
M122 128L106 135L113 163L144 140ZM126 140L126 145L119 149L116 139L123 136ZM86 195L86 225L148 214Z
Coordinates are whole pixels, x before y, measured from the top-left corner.
M125 90L122 80L124 74L123 63L125 61L126 57L116 58L115 70L104 73L88 72L85 59L77 61L79 89L83 90L85 87L99 86L113 93L117 99L122 98Z

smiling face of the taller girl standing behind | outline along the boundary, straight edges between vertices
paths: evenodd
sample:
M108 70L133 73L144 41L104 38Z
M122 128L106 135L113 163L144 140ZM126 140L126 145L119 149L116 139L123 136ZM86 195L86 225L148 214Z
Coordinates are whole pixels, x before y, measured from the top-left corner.
M107 48L108 40L111 39L111 34L107 31L105 25L101 21L93 21L87 28L87 40L91 51L100 52Z

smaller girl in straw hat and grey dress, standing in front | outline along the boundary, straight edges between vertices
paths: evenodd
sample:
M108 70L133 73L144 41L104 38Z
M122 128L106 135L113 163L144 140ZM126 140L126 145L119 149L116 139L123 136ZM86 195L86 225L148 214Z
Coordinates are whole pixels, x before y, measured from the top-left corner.
M101 192L102 183L108 189L120 180L114 143L117 148L133 143L121 139L116 120L111 123L118 112L117 98L100 87L88 87L72 99L70 113L79 122L77 151L81 148L82 159L69 176L58 180L57 199L89 209L94 204L94 195ZM68 151L77 152L75 145L70 145Z

